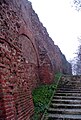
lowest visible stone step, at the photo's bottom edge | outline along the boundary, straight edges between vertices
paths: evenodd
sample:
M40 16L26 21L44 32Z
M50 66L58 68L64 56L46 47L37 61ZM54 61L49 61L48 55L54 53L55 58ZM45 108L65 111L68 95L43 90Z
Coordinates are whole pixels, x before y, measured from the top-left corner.
M48 120L56 120L57 118L63 118L63 120L64 119L81 120L81 115L48 114Z

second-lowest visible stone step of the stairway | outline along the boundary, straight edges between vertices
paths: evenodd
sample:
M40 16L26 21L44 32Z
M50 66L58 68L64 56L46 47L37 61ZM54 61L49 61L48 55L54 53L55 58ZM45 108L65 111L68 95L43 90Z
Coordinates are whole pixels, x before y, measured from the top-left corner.
M81 109L49 108L48 113L81 115Z

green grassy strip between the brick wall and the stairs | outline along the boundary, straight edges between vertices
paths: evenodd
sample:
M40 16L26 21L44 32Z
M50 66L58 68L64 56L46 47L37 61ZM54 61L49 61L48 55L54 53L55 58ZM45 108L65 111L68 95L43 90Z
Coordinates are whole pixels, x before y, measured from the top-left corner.
M40 120L41 115L44 113L45 109L48 108L49 100L57 88L57 81L61 77L61 74L58 73L55 75L55 82L51 85L42 85L32 92L35 114L32 120Z

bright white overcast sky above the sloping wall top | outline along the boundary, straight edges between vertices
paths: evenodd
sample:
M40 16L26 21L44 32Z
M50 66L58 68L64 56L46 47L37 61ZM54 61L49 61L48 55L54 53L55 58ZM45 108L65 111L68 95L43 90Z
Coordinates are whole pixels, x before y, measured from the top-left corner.
M59 46L67 60L76 56L81 37L81 12L72 6L73 0L29 0L46 27L49 36Z

